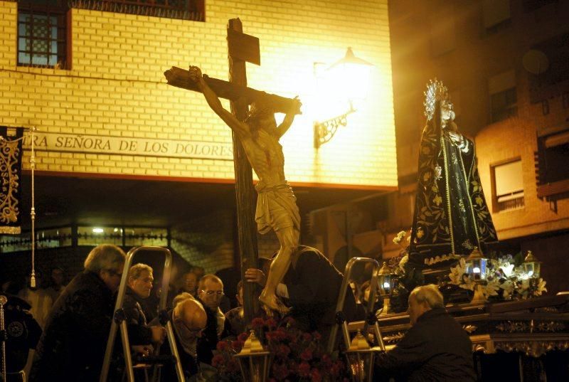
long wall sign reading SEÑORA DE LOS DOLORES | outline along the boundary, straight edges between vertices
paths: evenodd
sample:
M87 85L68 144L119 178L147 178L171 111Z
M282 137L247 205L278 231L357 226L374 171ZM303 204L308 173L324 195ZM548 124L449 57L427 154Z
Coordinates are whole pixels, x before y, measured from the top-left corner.
M230 142L201 142L181 139L112 137L50 132L36 132L33 139L34 149L38 151L233 160L233 145ZM31 149L31 137L26 136L23 146L26 149Z

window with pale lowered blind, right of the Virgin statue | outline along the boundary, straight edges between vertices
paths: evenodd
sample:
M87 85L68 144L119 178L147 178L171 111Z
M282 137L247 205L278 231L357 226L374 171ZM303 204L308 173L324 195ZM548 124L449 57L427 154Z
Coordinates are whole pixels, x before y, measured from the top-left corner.
M515 159L493 166L494 212L523 208L523 178L521 160Z

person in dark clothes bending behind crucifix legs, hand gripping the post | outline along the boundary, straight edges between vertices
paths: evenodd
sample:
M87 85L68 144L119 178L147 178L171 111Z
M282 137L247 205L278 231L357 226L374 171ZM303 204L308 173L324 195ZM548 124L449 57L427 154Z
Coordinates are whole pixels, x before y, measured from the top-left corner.
M326 339L336 324L336 304L343 278L319 250L298 245L285 277L277 285L277 295L292 307L289 316L295 319L299 329L319 331ZM265 272L249 268L245 271L245 280L263 286ZM362 318L356 317L356 300L350 287L346 287L344 313L350 322Z

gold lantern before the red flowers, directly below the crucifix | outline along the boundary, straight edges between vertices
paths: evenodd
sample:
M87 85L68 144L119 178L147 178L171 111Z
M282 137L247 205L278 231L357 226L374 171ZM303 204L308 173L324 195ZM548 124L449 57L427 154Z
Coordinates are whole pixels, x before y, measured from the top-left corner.
M255 336L255 331L251 331L249 338L243 344L243 349L239 354L235 354L235 358L239 361L243 381L267 381L272 357L270 351L262 347L261 342Z

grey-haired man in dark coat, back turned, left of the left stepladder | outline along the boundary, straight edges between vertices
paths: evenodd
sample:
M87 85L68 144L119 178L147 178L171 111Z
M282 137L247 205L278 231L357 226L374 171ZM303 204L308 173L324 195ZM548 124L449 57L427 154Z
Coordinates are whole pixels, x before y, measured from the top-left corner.
M48 315L30 381L99 380L124 258L122 249L109 244L87 255L85 270L65 287Z

